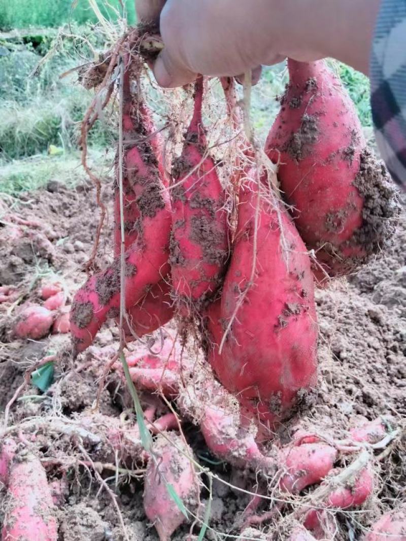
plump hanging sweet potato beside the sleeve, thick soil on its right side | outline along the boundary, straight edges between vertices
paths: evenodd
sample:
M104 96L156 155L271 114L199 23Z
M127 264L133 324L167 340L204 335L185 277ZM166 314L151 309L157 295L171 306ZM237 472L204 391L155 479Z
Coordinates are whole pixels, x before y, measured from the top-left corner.
M324 61L288 61L290 83L266 141L319 280L348 274L388 245L398 212L382 162L365 146L348 93Z

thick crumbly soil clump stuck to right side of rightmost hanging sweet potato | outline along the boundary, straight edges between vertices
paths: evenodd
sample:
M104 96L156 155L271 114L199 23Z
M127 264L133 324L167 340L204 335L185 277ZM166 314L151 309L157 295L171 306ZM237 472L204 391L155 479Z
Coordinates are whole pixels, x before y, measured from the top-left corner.
M401 207L394 184L384 163L365 148L360 157L359 173L353 181L364 199L362 226L349 243L362 246L366 254L386 249L396 229Z

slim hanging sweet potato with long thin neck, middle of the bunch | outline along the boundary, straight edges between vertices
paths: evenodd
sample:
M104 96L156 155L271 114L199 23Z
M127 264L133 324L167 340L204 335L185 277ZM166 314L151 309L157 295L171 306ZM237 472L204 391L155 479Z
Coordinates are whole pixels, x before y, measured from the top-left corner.
M228 257L225 193L209 156L201 120L204 82L195 85L194 113L172 169L171 270L182 316L192 316L218 290Z

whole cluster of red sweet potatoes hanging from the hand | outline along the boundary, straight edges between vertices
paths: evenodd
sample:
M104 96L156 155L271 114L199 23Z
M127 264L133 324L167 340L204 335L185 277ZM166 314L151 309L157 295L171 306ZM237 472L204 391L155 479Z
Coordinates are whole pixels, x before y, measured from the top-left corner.
M183 150L169 171L125 58L116 258L75 295L75 353L120 309L127 339L175 315L184 338L200 334L221 384L269 433L312 402L315 282L352 272L390 241L397 204L388 173L324 61L288 63L290 83L265 148L280 191L269 163L253 159L250 141L230 179L234 190L222 185L202 123L202 77Z

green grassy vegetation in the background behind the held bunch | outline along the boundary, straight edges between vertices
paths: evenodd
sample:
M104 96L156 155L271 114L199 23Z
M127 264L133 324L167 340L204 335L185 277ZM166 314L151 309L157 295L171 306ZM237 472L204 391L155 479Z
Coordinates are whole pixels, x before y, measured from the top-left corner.
M75 183L82 172L77 148L84 111L93 98L76 72L60 78L103 51L96 9L113 25L136 24L134 0L0 0L0 193L16 195L49 180ZM71 37L58 41L58 32ZM50 51L53 54L50 55ZM38 76L32 76L45 55ZM334 64L355 101L365 130L371 130L369 82L344 64ZM253 124L265 138L277 114L277 95L286 83L284 65L266 68L253 93ZM90 157L109 163L114 151L115 116L104 115L91 131Z

